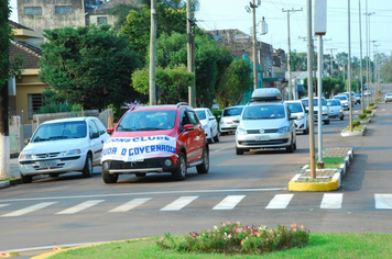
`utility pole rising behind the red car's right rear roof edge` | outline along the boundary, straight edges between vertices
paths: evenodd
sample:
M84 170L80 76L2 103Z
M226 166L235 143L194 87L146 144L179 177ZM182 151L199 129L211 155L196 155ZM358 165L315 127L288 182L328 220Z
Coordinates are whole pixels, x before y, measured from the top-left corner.
M192 35L192 16L190 16L190 0L186 0L186 36L187 36L187 66L188 71L195 75L195 49L194 49L194 36ZM189 105L196 108L196 83L195 79L192 81L189 90Z

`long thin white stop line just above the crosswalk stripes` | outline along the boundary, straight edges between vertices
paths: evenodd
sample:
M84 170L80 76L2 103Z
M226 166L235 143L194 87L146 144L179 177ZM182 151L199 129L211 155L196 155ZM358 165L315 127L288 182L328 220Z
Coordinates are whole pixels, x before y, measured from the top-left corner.
M97 195L75 195L75 196L45 196L45 198L25 198L0 200L0 202L17 202L17 201L46 201L46 200L66 200L66 199L86 199L86 198L109 198L109 196L133 196L133 195L161 195L176 193L218 193L218 192L269 192L269 191L286 191L287 188L264 188L264 189L222 189L222 190L194 190L194 191L167 191L167 192L135 192L135 193L112 193Z

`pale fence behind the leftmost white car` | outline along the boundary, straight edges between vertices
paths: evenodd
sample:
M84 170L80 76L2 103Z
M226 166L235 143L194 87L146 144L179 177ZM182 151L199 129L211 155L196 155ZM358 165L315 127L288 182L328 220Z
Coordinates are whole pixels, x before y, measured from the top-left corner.
M63 112L63 113L47 113L47 114L34 114L32 124L24 124L23 111L21 113L10 116L10 153L18 154L24 147L24 139L31 138L34 131L43 122L63 119L63 117L77 117L77 116L95 116L102 122L105 127L112 127L113 110L107 109L99 113L98 110L88 110L81 112Z

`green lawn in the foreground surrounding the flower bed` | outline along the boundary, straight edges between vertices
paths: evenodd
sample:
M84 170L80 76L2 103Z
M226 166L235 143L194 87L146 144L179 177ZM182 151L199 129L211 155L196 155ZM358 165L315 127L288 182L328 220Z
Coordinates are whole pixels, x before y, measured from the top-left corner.
M178 254L162 250L157 238L126 240L65 250L50 257L68 258L392 258L392 235L389 234L316 234L311 233L308 246L264 254L264 256L225 256L217 254Z

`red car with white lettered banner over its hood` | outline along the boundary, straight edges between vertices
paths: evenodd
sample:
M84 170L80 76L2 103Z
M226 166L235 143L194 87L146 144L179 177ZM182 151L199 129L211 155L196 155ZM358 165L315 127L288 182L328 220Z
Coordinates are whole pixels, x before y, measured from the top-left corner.
M198 173L209 169L209 148L196 112L187 103L137 106L119 121L101 155L105 183L115 183L119 174L171 172L184 180L187 168Z

